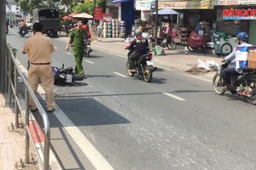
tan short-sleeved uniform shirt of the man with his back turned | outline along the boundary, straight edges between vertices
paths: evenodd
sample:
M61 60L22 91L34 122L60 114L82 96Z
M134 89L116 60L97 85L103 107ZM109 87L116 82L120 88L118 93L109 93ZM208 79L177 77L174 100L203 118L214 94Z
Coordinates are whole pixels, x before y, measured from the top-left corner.
M37 32L26 39L22 52L28 54L28 61L31 63L51 63L50 54L55 52L55 48L49 37Z

